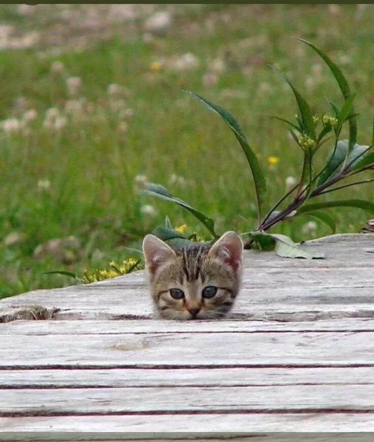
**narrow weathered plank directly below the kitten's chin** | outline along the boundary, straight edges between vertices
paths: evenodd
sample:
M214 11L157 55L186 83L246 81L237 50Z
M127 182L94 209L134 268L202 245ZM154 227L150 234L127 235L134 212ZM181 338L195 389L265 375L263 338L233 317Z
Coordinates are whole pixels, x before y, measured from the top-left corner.
M13 321L0 326L0 336L18 335L126 335L164 333L259 333L259 332L374 332L374 319L344 318L313 321L242 320L121 320L121 321Z

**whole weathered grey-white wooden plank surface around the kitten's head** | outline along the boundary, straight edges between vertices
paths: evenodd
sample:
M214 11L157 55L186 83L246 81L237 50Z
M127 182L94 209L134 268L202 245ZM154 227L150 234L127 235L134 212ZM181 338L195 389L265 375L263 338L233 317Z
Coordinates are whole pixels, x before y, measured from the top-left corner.
M0 301L59 309L0 324L0 430L374 431L374 235L305 246L246 252L223 321L150 319L144 272Z

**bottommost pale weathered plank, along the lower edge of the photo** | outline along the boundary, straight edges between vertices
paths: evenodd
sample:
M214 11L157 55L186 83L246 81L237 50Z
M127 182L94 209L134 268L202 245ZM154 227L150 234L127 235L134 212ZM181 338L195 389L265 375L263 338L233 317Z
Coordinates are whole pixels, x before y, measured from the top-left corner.
M267 434L257 434L250 436L252 442L263 442L261 437L266 438L266 442L277 440L273 437L282 436L280 442L294 441L299 442L301 440L321 441L321 442L369 442L370 434L352 433L363 431L374 431L374 419L371 413L367 415L352 415L351 413L330 413L329 415L321 415L320 413L305 413L298 414L264 414L264 415L229 415L227 417L222 415L178 415L178 416L100 416L92 419L90 416L65 416L58 418L50 417L38 417L38 418L17 418L8 419L0 418L0 428L3 431L12 431L10 439L8 440L71 440L72 434L59 434L58 431L74 432L82 431L79 435L74 435L76 440L100 440L107 441L112 440L115 436L104 433L104 431L111 432L126 432L130 440L186 440L184 437L190 435L187 440L199 440L198 436L194 432L202 432L201 436L204 437L206 432L214 432L213 440L220 440L217 436L218 432L232 432L227 435L223 440L235 440L240 441L243 435L238 432L264 432ZM20 428L24 429L20 432ZM53 429L53 433L51 433ZM193 429L194 432L191 430ZM18 431L18 433L16 433ZM26 433L26 431L49 433ZM92 436L93 431L102 432L101 438ZM149 431L152 431L149 434ZM268 432L311 432L308 434L268 434ZM317 432L326 431L348 431L349 434L316 434ZM132 433L133 432L133 433ZM138 438L134 434L138 433ZM144 437L144 433L148 432L147 437ZM154 432L162 432L160 435ZM174 433L173 433L174 432ZM178 432L178 433L176 433ZM237 433L237 434L235 434ZM8 436L9 433L4 433ZM116 435L119 440L126 440L126 435ZM192 437L191 437L192 436ZM237 438L236 438L237 436ZM23 437L23 439L22 439ZM49 437L49 439L47 439ZM120 438L119 438L120 437ZM294 439L295 437L295 439ZM123 439L122 439L123 438ZM260 439L259 439L260 438ZM114 439L116 440L116 439ZM202 441L201 441L202 442Z

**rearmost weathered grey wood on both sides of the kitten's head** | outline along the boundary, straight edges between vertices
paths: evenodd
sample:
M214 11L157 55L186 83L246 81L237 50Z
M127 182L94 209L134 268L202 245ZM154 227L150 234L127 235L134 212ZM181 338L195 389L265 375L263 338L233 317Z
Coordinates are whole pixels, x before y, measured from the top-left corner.
M273 253L246 251L243 289L234 313L284 321L355 314L374 317L374 254L367 253L374 248L373 238L368 234L334 235L305 245L325 250L325 260L284 259ZM57 307L60 318L150 318L152 313L142 271L95 284L29 292L6 298L0 306L24 303Z

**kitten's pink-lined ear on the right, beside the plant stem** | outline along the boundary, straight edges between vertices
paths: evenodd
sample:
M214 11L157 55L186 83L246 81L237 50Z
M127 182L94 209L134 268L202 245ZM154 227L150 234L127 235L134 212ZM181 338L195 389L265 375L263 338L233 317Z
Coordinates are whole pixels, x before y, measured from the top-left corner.
M209 255L227 262L236 272L241 268L243 241L236 232L226 232L212 245Z

